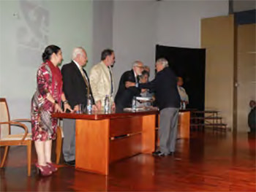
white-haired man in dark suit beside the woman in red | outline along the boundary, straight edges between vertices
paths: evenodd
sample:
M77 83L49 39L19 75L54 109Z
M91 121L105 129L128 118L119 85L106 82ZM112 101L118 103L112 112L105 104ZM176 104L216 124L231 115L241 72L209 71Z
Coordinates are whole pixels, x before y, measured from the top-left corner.
M63 91L70 106L78 111L81 104L86 106L88 96L91 96L94 104L94 97L91 93L89 77L83 66L86 66L87 54L83 47L76 47L72 52L72 61L65 64L61 69L63 78ZM93 109L97 110L93 105ZM75 120L63 120L63 155L66 164L75 165Z

